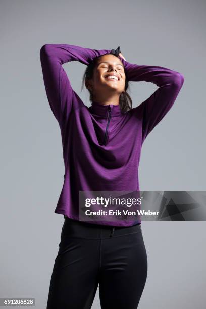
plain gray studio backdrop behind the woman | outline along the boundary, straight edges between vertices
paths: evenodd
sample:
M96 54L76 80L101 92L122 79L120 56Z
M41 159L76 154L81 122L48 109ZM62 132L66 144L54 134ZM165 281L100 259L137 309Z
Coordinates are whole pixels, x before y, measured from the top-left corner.
M46 307L63 216L58 122L39 59L45 43L115 49L127 61L181 72L173 108L146 138L140 190L205 190L205 1L1 0L1 295ZM85 65L64 64L81 90ZM157 86L132 82L133 106ZM205 222L142 222L148 275L141 309L204 308ZM98 289L92 309L100 308Z

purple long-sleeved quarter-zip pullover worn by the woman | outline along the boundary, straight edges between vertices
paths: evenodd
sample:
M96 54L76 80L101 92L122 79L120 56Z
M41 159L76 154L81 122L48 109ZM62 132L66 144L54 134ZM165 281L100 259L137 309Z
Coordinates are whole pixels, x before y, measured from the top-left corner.
M119 105L87 107L72 89L62 64L88 65L111 50L68 44L40 49L43 80L50 108L62 135L65 175L55 213L79 220L79 191L138 191L142 143L173 106L183 85L181 73L160 66L131 64L120 57L129 81L146 81L159 88L125 114ZM139 217L136 223L141 223ZM111 225L100 222L102 225ZM134 223L114 222L113 226Z

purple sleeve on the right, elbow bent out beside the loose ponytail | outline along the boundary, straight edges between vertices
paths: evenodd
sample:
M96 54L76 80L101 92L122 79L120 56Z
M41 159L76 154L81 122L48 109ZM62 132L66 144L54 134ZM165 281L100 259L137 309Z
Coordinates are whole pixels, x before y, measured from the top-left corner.
M142 115L142 143L173 106L184 83L184 76L160 66L131 64L121 58L128 81L146 81L159 88L134 110Z

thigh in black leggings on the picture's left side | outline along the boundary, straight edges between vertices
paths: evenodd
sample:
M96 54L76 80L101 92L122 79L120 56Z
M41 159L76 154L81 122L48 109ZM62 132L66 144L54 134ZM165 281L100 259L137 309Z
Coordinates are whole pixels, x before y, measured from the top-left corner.
M99 240L62 237L47 309L90 309L98 286Z

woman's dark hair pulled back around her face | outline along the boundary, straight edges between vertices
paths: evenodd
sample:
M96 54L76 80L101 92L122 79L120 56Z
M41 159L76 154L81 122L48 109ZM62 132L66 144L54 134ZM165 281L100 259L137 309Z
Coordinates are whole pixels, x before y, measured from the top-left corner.
M113 55L115 56L113 53L107 53L105 55ZM89 63L89 65L87 66L85 72L84 72L84 75L83 75L83 78L82 78L82 86L81 86L81 91L83 89L83 86L85 85L85 81L86 79L91 79L92 76L93 76L93 71L94 71L94 68L95 68L95 65L97 63L97 60L102 57L104 55L101 55L101 56L98 56L98 57L95 57L93 59L93 61L91 61ZM117 57L117 56L115 56ZM122 92L120 94L120 99L119 99L119 105L120 105L120 108L121 108L121 111L122 112L127 112L128 110L131 110L132 109L132 99L130 97L130 95L126 92L129 89L129 81L127 79L127 74L125 72L125 92ZM92 92L90 91L90 89L88 89L89 93L90 93L90 97L89 97L89 101L92 102Z

